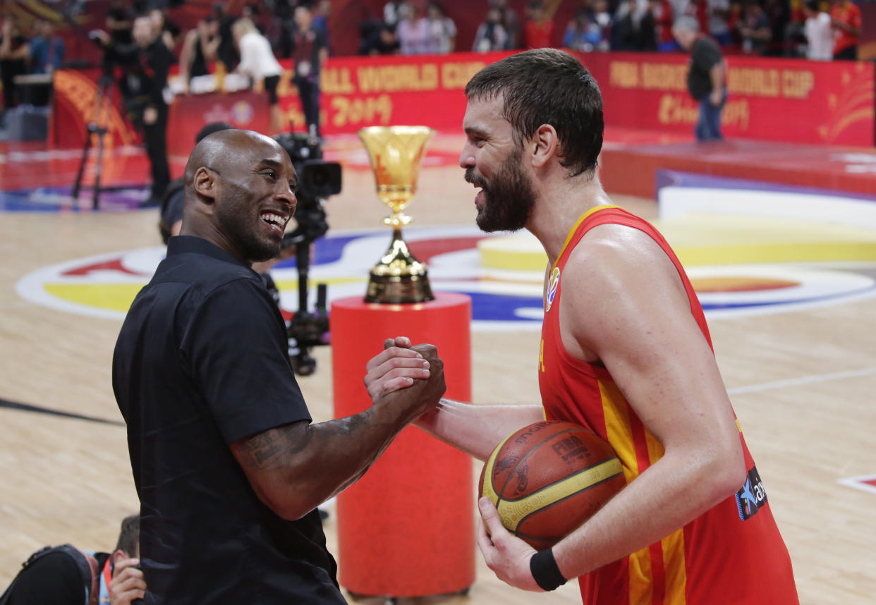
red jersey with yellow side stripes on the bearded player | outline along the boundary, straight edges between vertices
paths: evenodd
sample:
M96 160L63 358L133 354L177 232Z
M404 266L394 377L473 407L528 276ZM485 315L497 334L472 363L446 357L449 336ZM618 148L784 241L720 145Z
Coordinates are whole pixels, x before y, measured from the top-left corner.
M569 420L607 440L634 480L663 455L663 446L642 425L604 367L582 362L560 337L562 271L569 253L593 227L615 223L653 238L675 264L688 292L690 313L710 341L703 308L668 243L651 224L614 206L593 208L569 233L551 267L541 327L539 385L547 419ZM738 426L738 422L737 422ZM579 578L587 605L797 605L788 549L776 527L767 495L745 446L748 470L737 494L660 542ZM683 498L684 494L678 497Z

